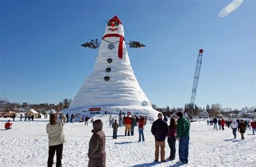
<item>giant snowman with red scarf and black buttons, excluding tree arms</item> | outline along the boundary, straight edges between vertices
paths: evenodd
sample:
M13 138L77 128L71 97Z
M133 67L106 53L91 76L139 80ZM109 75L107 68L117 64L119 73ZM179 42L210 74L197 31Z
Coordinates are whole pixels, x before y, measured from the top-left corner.
M150 120L157 112L140 88L130 65L124 27L117 16L106 25L95 67L84 81L68 109L62 113L79 116L93 114L145 115ZM76 118L77 121L77 118Z

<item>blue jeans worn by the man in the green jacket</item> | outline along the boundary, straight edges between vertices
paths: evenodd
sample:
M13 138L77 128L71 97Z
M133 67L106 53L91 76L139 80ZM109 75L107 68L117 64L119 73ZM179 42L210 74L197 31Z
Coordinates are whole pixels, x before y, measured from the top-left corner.
M190 137L181 137L179 138L179 160L183 163L188 163L188 143Z

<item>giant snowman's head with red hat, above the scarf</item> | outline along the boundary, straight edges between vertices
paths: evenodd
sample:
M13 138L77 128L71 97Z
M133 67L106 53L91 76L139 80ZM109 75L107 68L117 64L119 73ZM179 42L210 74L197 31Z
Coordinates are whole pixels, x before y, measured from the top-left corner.
M122 25L121 20L117 16L114 16L109 20L109 22L107 22L105 34L111 33L117 33L124 37L124 26Z

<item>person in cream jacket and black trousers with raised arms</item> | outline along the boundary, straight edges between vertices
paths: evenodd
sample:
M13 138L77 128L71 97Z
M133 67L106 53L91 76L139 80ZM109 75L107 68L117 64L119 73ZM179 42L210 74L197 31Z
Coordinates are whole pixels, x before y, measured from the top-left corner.
M58 121L58 114L62 118ZM62 150L63 143L66 142L65 135L63 131L63 126L66 123L66 116L61 113L51 114L50 123L46 125L46 133L49 138L49 157L48 157L48 167L52 166L53 158L56 151L56 166L62 166Z

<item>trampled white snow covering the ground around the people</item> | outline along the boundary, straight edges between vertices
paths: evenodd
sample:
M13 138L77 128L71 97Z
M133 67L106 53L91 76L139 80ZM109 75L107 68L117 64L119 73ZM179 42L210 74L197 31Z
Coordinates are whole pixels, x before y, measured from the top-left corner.
M179 159L178 142L176 159L165 163L153 163L154 137L147 124L144 130L145 142L138 142L138 127L134 136L124 136L124 127L118 128L117 140L112 140L112 128L109 127L109 115L98 115L104 123L106 135L106 166L175 166ZM46 166L48 159L48 135L46 119L33 122L14 122L12 129L4 130L8 119L0 118L0 166ZM88 145L92 124L67 123L64 132L67 142L63 148L63 166L87 166ZM256 135L246 130L245 140L240 134L235 140L232 129L213 130L206 123L193 122L190 130L188 164L184 166L255 166ZM165 157L170 156L170 148L165 144ZM55 158L56 162L56 158Z

